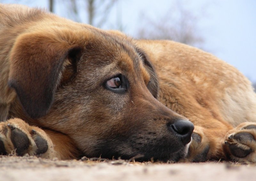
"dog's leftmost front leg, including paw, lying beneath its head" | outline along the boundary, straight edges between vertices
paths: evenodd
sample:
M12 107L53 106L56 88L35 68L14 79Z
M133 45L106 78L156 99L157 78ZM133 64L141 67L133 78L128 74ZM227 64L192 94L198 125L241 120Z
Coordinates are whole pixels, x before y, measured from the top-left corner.
M40 156L59 159L74 158L76 149L68 136L29 126L21 119L0 123L0 154Z

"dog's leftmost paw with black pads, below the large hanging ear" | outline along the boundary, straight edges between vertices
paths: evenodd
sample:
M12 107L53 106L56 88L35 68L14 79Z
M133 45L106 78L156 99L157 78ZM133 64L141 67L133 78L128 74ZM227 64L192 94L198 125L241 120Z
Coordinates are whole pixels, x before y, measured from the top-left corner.
M49 158L54 150L51 139L42 129L29 126L21 119L9 119L0 123L0 154Z

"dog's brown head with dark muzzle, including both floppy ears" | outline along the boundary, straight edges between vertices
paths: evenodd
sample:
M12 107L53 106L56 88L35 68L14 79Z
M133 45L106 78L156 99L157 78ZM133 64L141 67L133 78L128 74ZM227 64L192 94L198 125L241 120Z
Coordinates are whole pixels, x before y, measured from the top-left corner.
M116 33L84 25L36 31L12 48L9 86L24 115L69 135L86 156L175 161L187 154L194 126L157 100L149 61Z

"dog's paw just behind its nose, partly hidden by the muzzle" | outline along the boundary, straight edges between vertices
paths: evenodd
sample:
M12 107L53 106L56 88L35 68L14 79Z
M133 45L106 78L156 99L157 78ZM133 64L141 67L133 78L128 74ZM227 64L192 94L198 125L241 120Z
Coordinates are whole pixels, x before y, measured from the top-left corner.
M195 127L192 133L192 140L189 145L188 155L181 162L205 162L208 160L210 144L203 131Z

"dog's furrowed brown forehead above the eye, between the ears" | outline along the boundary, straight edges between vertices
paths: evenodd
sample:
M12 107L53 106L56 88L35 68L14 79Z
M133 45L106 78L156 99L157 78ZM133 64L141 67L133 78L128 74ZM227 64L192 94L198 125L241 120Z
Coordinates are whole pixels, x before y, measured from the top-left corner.
M80 64L80 70L86 69L84 72L90 76L87 79L101 77L101 81L104 81L111 76L124 74L131 80L143 79L148 84L150 76L137 47L129 38L107 32L98 32L92 36L85 43L83 63Z

